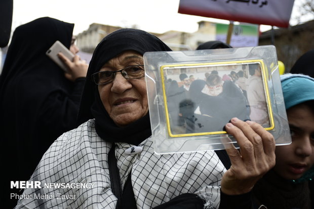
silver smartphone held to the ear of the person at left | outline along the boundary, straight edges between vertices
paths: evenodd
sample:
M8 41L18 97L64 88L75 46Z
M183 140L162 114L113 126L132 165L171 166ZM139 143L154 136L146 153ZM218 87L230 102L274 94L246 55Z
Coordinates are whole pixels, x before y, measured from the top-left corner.
M50 48L47 50L46 55L50 57L59 67L61 67L65 72L68 72L66 65L58 57L58 53L61 52L69 60L73 60L73 53L70 52L59 40L57 40Z

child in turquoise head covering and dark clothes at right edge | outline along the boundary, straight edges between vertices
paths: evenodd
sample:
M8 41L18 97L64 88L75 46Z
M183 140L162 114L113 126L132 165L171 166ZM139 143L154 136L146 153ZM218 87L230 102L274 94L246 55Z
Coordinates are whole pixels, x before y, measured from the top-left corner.
M276 147L276 165L254 186L254 202L271 208L311 208L314 191L314 79L281 76L292 143Z

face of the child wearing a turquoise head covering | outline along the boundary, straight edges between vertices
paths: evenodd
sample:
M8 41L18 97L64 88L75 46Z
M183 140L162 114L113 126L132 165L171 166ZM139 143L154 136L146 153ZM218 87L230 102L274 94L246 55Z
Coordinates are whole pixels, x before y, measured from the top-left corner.
M276 147L274 171L287 180L300 178L314 163L314 113L303 104L287 110L292 143Z

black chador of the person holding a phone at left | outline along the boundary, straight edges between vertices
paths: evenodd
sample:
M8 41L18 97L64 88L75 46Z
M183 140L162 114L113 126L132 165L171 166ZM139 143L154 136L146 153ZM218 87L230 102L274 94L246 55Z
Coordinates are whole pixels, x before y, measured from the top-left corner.
M76 126L74 83L45 54L56 40L69 48L73 27L44 17L13 33L0 76L0 138L11 181L27 181L53 141Z

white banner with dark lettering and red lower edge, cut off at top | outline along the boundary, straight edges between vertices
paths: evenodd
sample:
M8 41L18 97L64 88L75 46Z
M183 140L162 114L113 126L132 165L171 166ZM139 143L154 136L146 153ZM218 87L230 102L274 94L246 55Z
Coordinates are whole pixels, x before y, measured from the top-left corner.
M294 0L180 0L178 12L253 24L288 27Z

